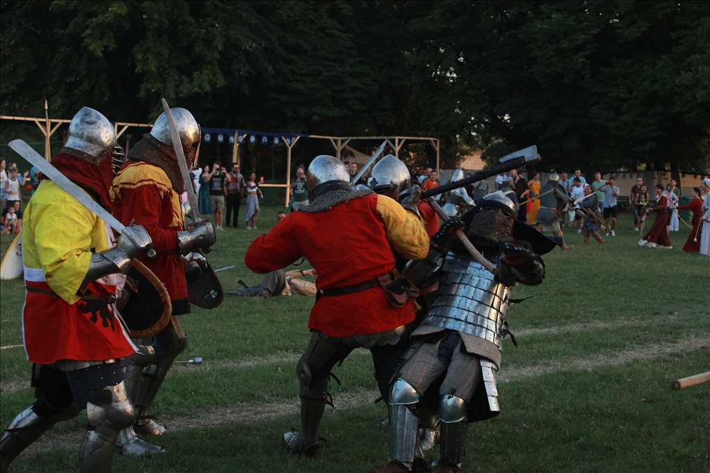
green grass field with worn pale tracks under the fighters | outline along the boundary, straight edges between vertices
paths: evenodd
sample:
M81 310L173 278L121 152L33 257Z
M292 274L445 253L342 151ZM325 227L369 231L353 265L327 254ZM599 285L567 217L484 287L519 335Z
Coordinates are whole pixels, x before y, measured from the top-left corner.
M264 207L259 229L280 208ZM650 227L650 223L649 223ZM501 415L472 424L465 472L710 472L710 384L672 391L673 379L710 370L710 259L636 245L630 217L618 236L586 246L567 232L571 252L545 256L541 286L510 308L518 347L504 341L498 373ZM225 290L261 277L244 267L256 232L218 233L209 255ZM2 235L4 252L11 238ZM307 263L302 267L307 267ZM1 286L1 345L21 343L21 279ZM386 418L369 353L356 350L335 374L315 459L289 455L283 433L299 428L295 362L305 348L312 298L227 298L214 311L183 317L190 345L153 413L170 431L154 443L165 455L114 456L114 472L367 472L387 461ZM50 315L50 314L48 314ZM1 351L0 425L33 402L21 348ZM73 472L82 416L58 425L13 462L14 472ZM435 455L435 452L430 452Z

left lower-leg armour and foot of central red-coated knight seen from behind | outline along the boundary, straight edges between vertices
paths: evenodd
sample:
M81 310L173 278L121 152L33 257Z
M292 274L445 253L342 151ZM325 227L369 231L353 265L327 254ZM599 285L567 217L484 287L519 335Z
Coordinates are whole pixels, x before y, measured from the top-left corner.
M296 372L300 382L301 399L301 430L298 433L287 432L283 436L284 447L305 455L317 453L318 428L323 418L323 411L327 404L328 393L325 391L312 391L311 369L304 357L300 357L296 365Z

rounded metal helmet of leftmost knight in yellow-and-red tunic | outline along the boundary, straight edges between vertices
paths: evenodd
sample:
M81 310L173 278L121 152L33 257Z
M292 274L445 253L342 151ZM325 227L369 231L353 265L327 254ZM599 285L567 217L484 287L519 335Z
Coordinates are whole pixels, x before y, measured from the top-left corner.
M116 146L114 126L108 118L89 107L82 108L72 118L67 136L64 148L79 151L84 160L97 166L114 152Z

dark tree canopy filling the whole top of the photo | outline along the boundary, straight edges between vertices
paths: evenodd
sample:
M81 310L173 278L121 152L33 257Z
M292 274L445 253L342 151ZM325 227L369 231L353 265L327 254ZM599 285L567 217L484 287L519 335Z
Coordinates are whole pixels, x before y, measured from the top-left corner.
M455 164L710 165L703 1L1 1L4 115L429 135ZM405 145L406 148L407 145ZM420 148L410 148L419 150ZM423 155L423 153L420 153ZM423 157L422 159L426 159Z

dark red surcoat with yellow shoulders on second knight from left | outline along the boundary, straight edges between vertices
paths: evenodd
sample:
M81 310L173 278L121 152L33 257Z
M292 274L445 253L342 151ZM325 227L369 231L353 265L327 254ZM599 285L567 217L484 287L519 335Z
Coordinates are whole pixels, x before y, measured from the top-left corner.
M146 228L153 239L155 258L141 254L138 260L165 284L173 301L173 313L189 313L185 269L178 247L178 231L184 229L185 215L180 194L173 190L168 175L158 166L130 161L114 178L111 204L121 223L128 225L133 221Z

